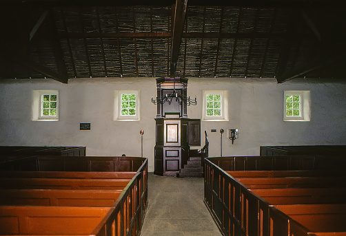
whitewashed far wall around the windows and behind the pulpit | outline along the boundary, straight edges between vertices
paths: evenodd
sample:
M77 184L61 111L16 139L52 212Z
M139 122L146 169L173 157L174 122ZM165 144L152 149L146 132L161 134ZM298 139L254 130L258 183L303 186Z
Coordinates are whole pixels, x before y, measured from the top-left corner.
M59 121L32 121L32 90L59 90ZM141 120L114 121L114 90L140 91ZM346 144L346 85L276 83L275 79L190 78L187 94L197 105L187 107L189 118L202 117L203 90L228 90L229 121L202 121L207 131L210 156L221 155L220 129L239 129L232 142L223 134L223 155L258 155L261 145ZM311 91L311 121L283 121L283 91ZM67 85L47 80L0 82L0 145L86 146L87 155L141 155L154 171L156 105L155 78L83 78ZM79 123L90 122L90 131ZM211 133L216 129L216 133ZM204 138L202 136L202 144ZM200 148L200 147L197 147Z

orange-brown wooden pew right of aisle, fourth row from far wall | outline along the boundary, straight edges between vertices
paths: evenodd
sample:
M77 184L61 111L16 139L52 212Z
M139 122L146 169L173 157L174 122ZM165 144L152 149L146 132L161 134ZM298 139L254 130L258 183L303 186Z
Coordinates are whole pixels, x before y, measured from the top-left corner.
M274 207L312 230L312 233L346 234L346 204L292 204Z

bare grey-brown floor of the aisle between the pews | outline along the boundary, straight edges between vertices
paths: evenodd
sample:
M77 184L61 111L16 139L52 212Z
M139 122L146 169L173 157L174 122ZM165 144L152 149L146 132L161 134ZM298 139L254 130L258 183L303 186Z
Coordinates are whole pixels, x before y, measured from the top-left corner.
M148 206L141 236L221 235L203 202L203 178L148 175Z

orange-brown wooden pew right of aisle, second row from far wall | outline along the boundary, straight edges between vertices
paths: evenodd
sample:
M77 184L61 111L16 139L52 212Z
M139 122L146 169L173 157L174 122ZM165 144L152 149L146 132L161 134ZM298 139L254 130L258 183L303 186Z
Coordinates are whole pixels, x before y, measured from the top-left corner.
M236 178L249 189L345 187L346 177Z

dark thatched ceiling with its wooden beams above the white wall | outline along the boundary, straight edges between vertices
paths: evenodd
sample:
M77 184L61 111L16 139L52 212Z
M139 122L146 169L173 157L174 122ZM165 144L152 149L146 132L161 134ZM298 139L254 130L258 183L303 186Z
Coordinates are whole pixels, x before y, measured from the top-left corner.
M0 1L0 78L343 79L339 1Z

